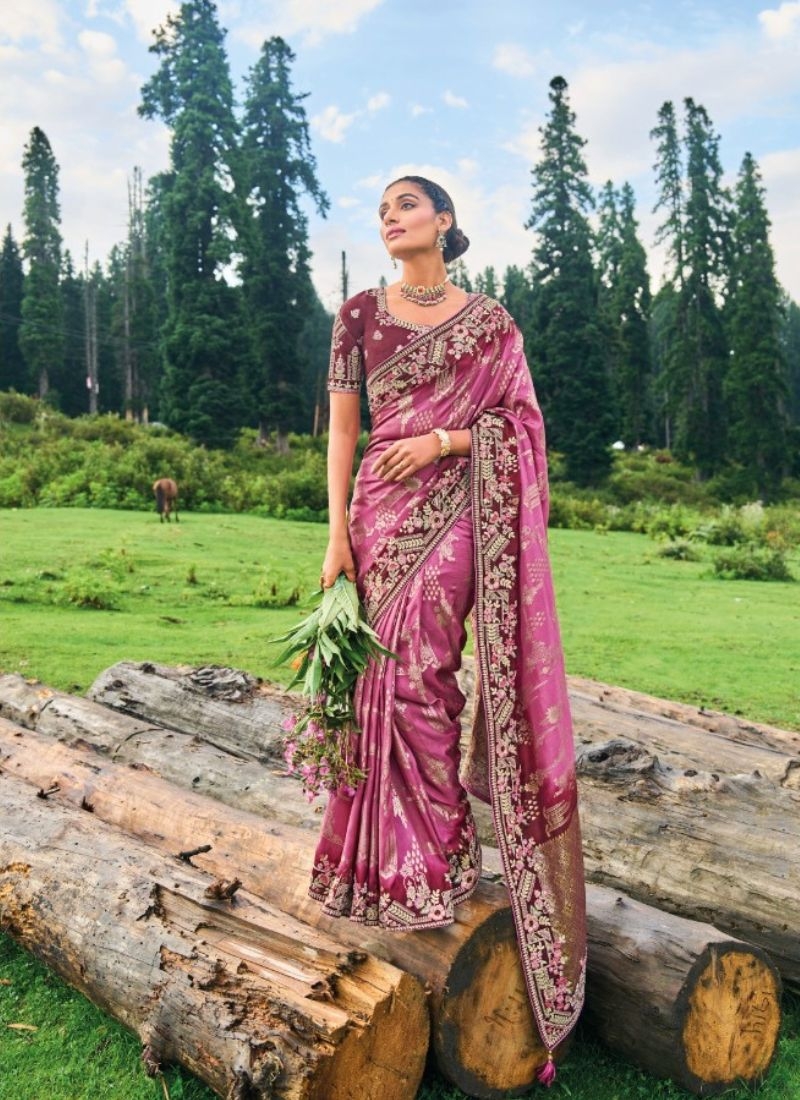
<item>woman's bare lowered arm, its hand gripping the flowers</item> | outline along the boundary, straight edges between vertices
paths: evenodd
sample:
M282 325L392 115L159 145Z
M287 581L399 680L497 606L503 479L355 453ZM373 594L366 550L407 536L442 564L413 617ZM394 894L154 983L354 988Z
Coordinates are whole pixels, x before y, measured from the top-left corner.
M355 580L355 563L348 535L348 496L353 472L361 416L358 394L331 393L328 436L328 549L320 582L329 588L339 573Z

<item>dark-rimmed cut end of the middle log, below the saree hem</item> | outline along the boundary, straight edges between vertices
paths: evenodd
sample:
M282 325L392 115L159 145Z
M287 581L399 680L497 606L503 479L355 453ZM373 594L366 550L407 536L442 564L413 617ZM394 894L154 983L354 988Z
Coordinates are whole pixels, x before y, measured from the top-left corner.
M547 1057L534 1024L511 910L459 952L431 1036L442 1074L480 1100L526 1092Z

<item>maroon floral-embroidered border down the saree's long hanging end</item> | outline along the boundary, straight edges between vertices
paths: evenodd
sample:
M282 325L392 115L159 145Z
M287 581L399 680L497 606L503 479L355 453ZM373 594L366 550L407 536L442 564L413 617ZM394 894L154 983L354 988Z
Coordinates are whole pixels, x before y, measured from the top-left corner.
M472 448L475 648L492 815L531 1009L541 1038L552 1050L574 1026L583 1002L584 959L573 983L566 966L572 945L565 932L577 908L573 887L559 883L559 876L582 873L578 818L574 807L565 813L565 804L557 803L560 812L554 821L548 807L539 807L537 795L536 824L540 829L543 818L547 823L546 838L533 836L529 792L538 790L540 777L524 776L519 765L520 747L530 730L517 691L518 439L505 417L484 413L472 429Z

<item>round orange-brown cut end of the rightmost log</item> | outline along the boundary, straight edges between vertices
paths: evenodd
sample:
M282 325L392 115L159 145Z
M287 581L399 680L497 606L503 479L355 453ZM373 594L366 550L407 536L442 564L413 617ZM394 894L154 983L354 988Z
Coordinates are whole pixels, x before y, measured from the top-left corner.
M780 1028L775 968L742 945L713 945L694 967L682 1042L693 1091L711 1096L737 1081L760 1081Z

